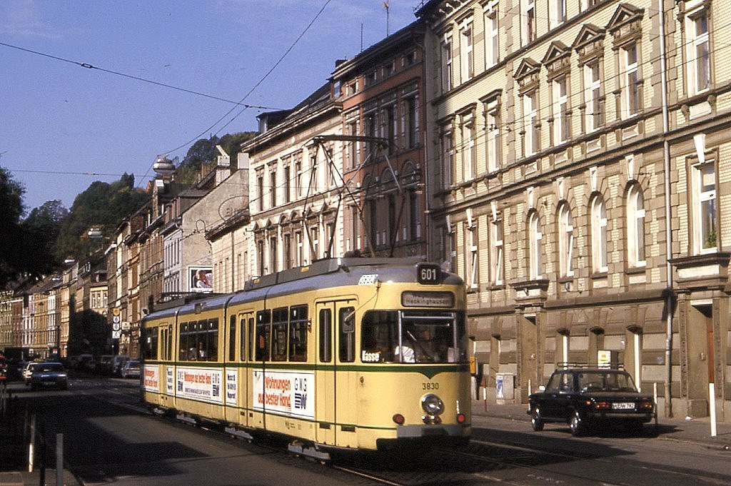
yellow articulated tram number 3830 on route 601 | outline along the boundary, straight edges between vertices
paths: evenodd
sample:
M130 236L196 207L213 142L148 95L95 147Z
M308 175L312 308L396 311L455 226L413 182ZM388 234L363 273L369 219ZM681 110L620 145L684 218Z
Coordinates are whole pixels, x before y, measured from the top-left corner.
M327 259L143 319L143 396L233 435L331 449L464 444L461 278L414 259Z

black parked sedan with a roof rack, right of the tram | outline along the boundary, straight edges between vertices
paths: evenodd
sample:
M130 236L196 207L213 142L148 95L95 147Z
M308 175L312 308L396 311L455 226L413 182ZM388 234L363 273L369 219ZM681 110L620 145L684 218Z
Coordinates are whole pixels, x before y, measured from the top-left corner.
M564 422L574 436L596 425L625 425L640 433L655 414L652 395L637 392L632 376L610 368L563 368L529 397L533 430Z

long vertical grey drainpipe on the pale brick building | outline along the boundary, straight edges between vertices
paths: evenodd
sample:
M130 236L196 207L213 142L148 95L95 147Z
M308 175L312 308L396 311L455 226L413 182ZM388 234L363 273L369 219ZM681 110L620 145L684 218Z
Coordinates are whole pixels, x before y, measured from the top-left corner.
M664 0L658 0L660 15L660 83L662 89L662 131L664 140L662 142L663 171L665 186L665 272L667 278L666 289L666 329L665 329L665 417L673 417L673 397L670 394L670 385L673 380L673 266L670 259L673 257L673 225L670 220L672 210L670 208L670 142L667 140L667 132L670 130L670 115L667 108L667 52L665 49L665 7Z

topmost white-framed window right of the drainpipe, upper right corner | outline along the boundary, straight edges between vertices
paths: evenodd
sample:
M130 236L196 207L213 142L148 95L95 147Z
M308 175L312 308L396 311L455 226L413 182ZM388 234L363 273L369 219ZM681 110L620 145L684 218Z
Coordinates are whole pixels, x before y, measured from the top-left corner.
M694 9L685 16L687 35L687 77L689 95L711 86L711 48L708 34L708 7Z

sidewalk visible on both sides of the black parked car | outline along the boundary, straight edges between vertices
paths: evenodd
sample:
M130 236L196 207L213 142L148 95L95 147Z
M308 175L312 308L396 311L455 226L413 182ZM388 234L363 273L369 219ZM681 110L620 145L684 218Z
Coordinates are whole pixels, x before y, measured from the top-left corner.
M518 420L526 422L526 430L530 430L531 417L526 413L527 404L497 405L482 400L472 401L473 417L499 417L501 419ZM645 424L645 428L652 430L654 422ZM731 451L731 423L716 422L716 436L711 436L711 419L702 417L698 419L686 419L685 417L673 417L658 419L657 438L666 441L691 442L703 444L707 447Z

